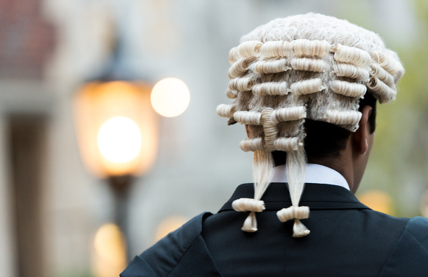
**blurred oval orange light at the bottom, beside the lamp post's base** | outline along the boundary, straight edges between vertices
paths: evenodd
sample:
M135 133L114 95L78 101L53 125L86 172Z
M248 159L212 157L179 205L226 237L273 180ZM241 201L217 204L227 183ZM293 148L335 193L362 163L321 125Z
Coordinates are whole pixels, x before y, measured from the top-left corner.
M115 224L108 223L98 229L93 241L95 276L119 276L126 267L125 238Z

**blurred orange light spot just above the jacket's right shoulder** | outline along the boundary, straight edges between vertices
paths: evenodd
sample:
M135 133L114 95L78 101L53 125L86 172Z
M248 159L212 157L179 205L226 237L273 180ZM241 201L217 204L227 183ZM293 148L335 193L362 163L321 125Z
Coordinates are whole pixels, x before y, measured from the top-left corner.
M394 201L391 196L384 191L365 191L358 196L359 201L373 210L394 215Z

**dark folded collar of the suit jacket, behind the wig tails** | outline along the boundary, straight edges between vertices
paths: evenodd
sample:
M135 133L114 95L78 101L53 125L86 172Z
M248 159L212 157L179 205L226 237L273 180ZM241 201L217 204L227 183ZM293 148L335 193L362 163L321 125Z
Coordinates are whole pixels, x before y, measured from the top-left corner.
M219 212L233 210L232 202L236 199L253 197L253 184L241 184ZM288 192L288 184L275 182L269 184L262 200L265 201L266 210L281 210L290 206L291 199ZM305 190L303 191L299 205L307 205L310 210L370 210L370 208L358 201L351 191L330 184L305 184Z

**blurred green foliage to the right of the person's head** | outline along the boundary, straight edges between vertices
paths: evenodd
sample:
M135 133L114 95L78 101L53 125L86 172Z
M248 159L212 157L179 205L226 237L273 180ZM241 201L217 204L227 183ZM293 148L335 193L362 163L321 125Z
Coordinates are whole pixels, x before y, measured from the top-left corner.
M396 215L420 215L420 195L427 189L428 157L428 1L413 0L417 15L415 41L399 54L406 74L396 102L378 106L375 145L364 178L364 189L388 191L396 201Z

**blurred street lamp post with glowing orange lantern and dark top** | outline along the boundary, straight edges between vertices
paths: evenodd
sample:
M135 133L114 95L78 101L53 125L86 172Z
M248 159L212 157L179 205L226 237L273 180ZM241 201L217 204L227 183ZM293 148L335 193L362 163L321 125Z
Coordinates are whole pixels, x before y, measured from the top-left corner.
M105 72L74 95L73 109L83 164L108 182L114 195L114 223L126 240L128 191L133 180L154 164L159 115L151 104L152 88L126 76L119 42ZM128 251L126 245L127 255Z

